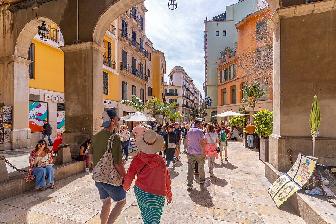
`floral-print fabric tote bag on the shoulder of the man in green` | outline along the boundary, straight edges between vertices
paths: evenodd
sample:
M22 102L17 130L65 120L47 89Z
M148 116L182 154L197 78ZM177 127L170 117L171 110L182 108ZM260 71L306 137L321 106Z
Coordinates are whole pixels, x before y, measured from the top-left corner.
M112 145L116 134L109 138L106 152L103 154L97 165L92 170L92 180L112 184L116 187L123 184L123 177L117 171L113 164ZM111 141L111 142L110 142Z

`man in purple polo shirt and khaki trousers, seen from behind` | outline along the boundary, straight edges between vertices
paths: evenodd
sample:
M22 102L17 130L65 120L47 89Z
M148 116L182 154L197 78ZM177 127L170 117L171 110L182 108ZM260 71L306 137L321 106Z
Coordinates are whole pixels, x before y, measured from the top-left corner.
M197 120L195 126L187 132L186 144L188 145L188 172L187 172L187 188L193 188L194 167L198 163L198 176L200 184L205 182L204 159L205 154L204 134L202 131L202 122Z

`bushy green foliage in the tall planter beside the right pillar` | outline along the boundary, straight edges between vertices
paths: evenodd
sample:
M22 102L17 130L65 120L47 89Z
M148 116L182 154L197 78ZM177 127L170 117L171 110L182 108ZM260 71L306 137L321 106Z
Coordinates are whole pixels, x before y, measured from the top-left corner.
M273 112L270 110L261 110L253 115L255 131L261 137L269 138L273 131Z

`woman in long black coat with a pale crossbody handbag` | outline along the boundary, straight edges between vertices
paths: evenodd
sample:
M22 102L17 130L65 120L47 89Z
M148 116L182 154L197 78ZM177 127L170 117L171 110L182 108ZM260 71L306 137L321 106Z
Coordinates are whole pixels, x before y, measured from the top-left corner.
M166 142L167 167L169 167L170 161L173 161L173 167L175 167L176 160L174 158L174 152L177 150L178 141L173 125L168 125L168 131L166 132L164 139Z

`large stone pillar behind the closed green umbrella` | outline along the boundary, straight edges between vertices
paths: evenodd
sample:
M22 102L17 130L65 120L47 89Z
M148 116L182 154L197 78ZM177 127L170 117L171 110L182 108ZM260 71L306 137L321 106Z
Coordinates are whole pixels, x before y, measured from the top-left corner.
M277 9L268 24L274 32L273 134L269 163L291 167L301 152L312 155L309 116L314 95L321 109L315 157L336 162L336 8L323 1ZM331 4L331 5L330 5Z

